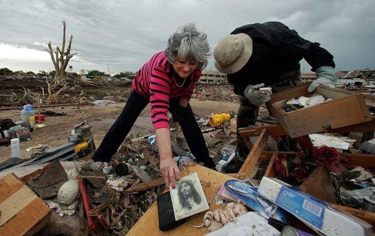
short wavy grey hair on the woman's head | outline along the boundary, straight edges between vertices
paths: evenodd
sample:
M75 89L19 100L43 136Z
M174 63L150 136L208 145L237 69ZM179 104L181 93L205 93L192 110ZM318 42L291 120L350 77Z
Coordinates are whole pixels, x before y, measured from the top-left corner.
M194 23L184 25L169 37L165 55L166 59L172 64L179 57L198 62L196 70L203 70L207 66L208 57L211 55L207 34L199 32Z

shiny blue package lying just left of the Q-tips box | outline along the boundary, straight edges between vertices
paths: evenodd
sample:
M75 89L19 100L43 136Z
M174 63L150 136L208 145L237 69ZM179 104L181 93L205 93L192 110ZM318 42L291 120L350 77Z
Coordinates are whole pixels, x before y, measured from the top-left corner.
M272 217L287 223L287 212L258 194L257 188L253 188L240 180L228 180L225 182L225 189L233 197L239 199L244 205L257 211L263 217L267 219Z

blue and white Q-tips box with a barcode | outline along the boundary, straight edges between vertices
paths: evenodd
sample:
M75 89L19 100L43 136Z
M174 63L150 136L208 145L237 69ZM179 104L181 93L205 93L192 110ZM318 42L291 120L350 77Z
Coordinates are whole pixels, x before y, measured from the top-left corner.
M372 233L372 226L367 222L276 178L263 177L258 193L324 235L367 236Z

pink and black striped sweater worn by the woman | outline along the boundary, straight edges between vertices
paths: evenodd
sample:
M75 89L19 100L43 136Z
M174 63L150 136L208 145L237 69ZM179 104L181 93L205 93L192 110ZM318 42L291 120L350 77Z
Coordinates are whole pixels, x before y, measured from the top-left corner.
M167 116L169 99L184 98L190 101L201 72L201 70L194 71L184 82L174 72L172 64L166 60L164 51L156 53L137 72L132 87L135 92L150 98L151 121L155 130L169 129ZM183 86L181 86L182 84Z

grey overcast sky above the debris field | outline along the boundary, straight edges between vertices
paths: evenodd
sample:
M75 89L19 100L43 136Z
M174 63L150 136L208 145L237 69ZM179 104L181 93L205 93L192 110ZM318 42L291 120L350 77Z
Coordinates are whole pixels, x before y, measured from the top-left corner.
M245 24L281 21L329 50L340 70L375 68L374 0L0 0L0 68L53 70L44 50L62 43L62 21L78 54L73 71L137 71L181 25L195 22L211 50ZM214 70L213 59L207 69ZM301 70L311 67L302 62Z

